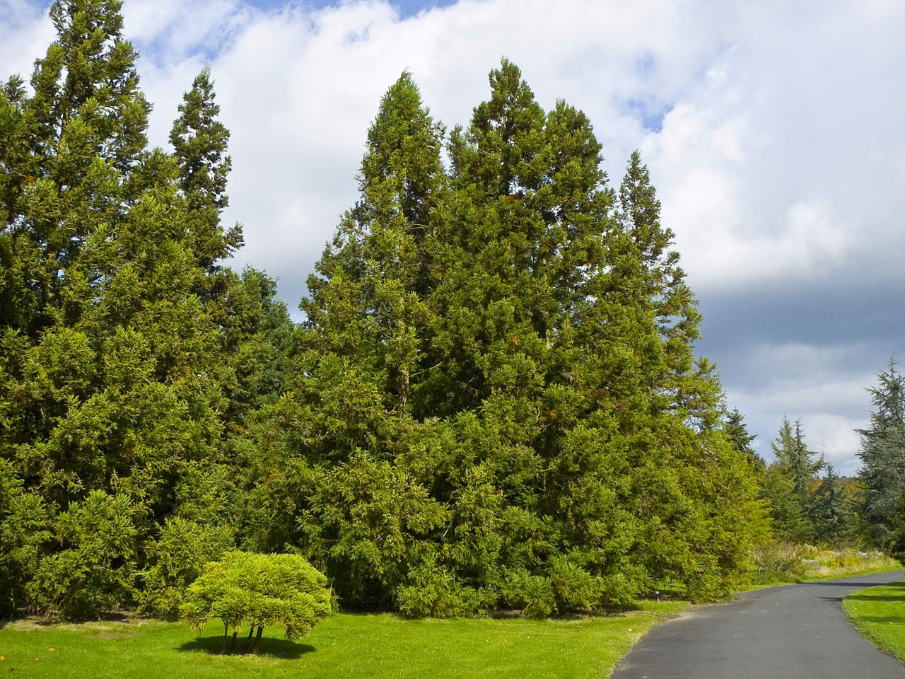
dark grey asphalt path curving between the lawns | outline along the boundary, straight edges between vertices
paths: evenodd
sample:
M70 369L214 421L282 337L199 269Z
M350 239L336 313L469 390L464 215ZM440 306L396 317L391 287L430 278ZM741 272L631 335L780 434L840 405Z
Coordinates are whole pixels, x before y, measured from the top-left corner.
M903 578L821 580L691 607L654 627L613 679L903 679L905 665L859 635L842 607L857 589Z

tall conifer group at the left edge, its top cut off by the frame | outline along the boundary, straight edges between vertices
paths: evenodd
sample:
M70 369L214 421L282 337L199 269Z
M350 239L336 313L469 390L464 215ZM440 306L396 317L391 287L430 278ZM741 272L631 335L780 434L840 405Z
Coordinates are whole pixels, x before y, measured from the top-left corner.
M238 322L198 295L224 253L199 235L224 238L224 130L202 79L205 112L186 105L179 139L209 152L185 172L186 148L148 150L119 6L52 5L33 95L12 79L0 100L14 133L0 145L0 285L14 292L0 319L3 599L71 615L134 600L137 577L148 591L184 582L191 568L158 568L176 562L167 550L203 563L232 543L216 463L233 402L221 348ZM197 141L205 129L216 139ZM271 304L271 282L248 286L246 307Z

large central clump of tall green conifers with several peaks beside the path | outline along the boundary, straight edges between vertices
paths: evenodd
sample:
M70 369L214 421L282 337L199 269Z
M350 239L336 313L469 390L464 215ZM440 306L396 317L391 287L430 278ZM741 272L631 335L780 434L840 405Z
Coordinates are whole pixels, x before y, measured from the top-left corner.
M726 596L759 505L647 169L519 70L445 145L404 73L244 448L243 540L344 604L528 616ZM279 509L278 509L279 508Z

